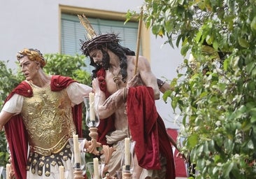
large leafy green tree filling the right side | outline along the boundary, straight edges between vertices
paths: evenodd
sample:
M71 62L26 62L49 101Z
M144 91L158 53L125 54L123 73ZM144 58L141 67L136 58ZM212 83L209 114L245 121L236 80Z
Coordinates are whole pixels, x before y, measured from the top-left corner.
M255 178L256 1L145 0L143 22L184 56L164 99L183 116L195 178Z

